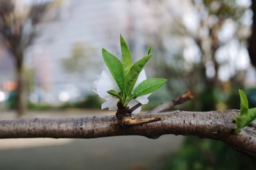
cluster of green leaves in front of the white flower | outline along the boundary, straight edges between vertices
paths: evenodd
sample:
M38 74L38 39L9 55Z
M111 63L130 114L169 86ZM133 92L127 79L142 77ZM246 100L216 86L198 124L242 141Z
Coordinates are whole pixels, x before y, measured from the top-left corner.
M132 64L131 53L122 34L120 35L120 45L122 51L122 62L104 48L102 49L102 56L120 89L120 92L109 90L108 93L112 96L118 97L122 104L127 106L129 101L132 99L145 94L150 94L159 89L167 80L164 78L148 78L147 80L142 81L140 85L134 89L134 85L143 67L153 56L153 53L151 52L152 48L151 46L148 46L147 55Z

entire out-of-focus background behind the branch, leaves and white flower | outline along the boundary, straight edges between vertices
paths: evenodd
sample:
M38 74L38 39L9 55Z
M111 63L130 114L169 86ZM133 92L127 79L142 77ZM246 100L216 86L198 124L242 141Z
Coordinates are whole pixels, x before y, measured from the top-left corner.
M133 61L152 45L147 76L168 78L143 110L191 90L175 109L256 106L256 1L1 0L0 119L108 115L92 82L101 49ZM1 169L255 169L221 141L166 135L99 139L1 139Z

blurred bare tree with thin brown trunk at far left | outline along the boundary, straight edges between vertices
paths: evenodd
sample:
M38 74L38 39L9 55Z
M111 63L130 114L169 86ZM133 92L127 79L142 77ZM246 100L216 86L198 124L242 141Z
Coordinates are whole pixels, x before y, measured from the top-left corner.
M0 38L15 62L17 81L17 112L21 116L26 110L26 89L24 80L24 53L35 40L44 13L50 3L22 5L22 1L0 1Z

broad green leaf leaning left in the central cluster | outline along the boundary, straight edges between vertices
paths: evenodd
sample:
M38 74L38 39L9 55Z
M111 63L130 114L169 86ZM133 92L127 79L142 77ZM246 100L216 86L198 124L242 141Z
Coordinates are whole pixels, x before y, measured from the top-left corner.
M115 55L109 53L104 48L102 48L102 56L119 89L124 91L124 74L122 63L115 57Z

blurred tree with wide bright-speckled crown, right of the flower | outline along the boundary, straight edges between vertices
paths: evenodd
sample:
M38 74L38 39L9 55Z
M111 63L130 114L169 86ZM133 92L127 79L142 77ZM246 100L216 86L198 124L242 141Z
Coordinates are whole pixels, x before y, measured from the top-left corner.
M229 0L197 0L182 3L185 3L182 10L189 12L180 15L168 10L170 5L165 1L152 3L152 8L157 6L172 16L170 25L159 27L147 36L154 37L148 41L154 46L154 53L162 57L161 60L159 57L155 59L154 70L162 68L163 71L158 71L157 74L171 80L168 81L168 89L172 94L192 90L196 96L193 100L193 109L215 110L218 102L227 101L228 94L232 92L230 84L241 85L235 81L241 82L244 78L240 76L240 72L243 71L236 67L236 60L230 60L232 56L228 48L232 43L236 43L239 49L246 46L250 32L243 18L248 7ZM159 16L159 13L156 12L156 16ZM170 36L166 36L166 27L169 27ZM227 30L230 27L231 33L228 36ZM171 45L166 45L168 41L172 42ZM238 53L236 57L240 57ZM228 70L223 71L225 68ZM225 80L221 80L223 73L228 73ZM230 83L227 83L228 81ZM216 90L227 95L220 98L216 96Z

